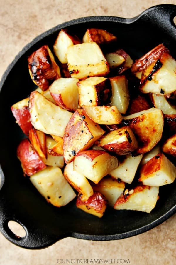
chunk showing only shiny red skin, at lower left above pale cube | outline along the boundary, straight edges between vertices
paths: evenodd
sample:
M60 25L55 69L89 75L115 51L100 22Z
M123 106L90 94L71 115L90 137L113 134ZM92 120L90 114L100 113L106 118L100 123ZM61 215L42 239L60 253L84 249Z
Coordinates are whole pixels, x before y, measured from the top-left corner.
M38 154L32 149L28 139L23 139L18 145L17 157L21 161L24 174L27 176L46 168Z

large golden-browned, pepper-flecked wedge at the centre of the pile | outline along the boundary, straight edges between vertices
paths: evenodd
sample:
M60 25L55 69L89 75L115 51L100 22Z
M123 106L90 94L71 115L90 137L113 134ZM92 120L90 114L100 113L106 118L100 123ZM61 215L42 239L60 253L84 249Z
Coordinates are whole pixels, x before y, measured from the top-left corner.
M83 109L77 109L65 128L64 159L68 164L75 155L91 147L104 134L104 130L92 121Z

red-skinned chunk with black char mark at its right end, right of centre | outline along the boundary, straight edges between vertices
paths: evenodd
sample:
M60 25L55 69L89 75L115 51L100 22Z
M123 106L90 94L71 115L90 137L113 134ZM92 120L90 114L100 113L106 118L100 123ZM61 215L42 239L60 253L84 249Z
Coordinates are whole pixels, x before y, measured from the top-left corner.
M138 148L138 142L133 131L128 126L109 132L95 144L119 156L129 154Z

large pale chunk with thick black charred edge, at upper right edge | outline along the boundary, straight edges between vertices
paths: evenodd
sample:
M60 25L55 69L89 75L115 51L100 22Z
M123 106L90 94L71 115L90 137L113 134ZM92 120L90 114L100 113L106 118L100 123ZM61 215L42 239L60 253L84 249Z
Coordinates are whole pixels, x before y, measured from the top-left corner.
M163 96L176 90L176 61L169 53L164 52L143 70L139 89Z

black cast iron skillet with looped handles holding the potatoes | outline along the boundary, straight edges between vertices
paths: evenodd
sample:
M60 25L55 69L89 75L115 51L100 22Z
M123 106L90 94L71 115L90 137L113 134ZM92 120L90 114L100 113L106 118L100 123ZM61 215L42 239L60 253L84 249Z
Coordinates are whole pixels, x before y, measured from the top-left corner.
M60 29L67 27L79 32L80 37L89 27L106 29L118 37L119 46L133 59L163 42L176 58L174 16L176 5L165 4L151 7L132 19L92 16L72 20L36 37L9 65L0 83L0 230L11 242L24 248L39 249L67 236L89 240L123 239L161 224L176 212L174 184L160 188L160 200L150 214L109 209L99 219L77 209L75 201L61 208L48 204L28 178L23 177L16 147L24 135L10 111L12 104L35 89L28 73L27 57L44 44L52 49ZM21 224L26 236L15 236L8 227L9 220Z

